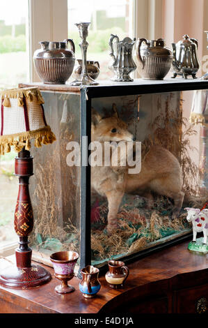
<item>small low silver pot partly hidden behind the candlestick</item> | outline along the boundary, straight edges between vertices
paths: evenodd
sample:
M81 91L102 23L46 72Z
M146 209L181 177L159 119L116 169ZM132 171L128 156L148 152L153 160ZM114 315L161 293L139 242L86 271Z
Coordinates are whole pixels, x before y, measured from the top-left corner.
M74 71L72 73L72 77L74 79L80 80L81 79L81 71L83 68L82 59L77 59L78 64L74 66ZM99 62L98 61L86 61L87 63L87 72L88 75L93 79L96 80L99 75Z

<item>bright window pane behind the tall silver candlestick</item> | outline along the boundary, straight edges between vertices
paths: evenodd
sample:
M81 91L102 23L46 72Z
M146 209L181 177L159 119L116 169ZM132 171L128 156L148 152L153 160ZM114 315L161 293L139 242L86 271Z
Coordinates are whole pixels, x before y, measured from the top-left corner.
M88 33L87 59L99 61L99 80L112 77L109 70L109 38L117 34L120 40L129 36L129 0L68 0L68 36L74 40L75 57L81 59L77 22L91 22Z

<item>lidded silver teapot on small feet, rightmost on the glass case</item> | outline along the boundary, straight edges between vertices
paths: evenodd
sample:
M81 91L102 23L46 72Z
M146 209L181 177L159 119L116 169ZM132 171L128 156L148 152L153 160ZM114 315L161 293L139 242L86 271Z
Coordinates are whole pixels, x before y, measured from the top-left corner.
M172 43L173 46L173 78L182 75L184 79L192 75L193 79L200 68L197 50L198 40L189 38L187 34L178 43Z

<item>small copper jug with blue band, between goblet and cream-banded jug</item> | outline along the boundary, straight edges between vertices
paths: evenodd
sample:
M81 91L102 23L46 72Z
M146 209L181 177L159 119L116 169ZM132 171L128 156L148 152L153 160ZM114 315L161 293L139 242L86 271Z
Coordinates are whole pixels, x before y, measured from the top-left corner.
M83 297L91 299L99 292L101 285L98 280L99 269L88 265L81 269L82 280L79 283L79 290L82 292Z

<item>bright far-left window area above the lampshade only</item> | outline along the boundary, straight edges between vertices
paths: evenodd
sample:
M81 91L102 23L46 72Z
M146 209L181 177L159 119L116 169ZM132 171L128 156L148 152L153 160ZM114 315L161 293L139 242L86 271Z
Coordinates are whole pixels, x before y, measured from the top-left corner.
M27 52L28 1L0 1L0 88L29 79Z

